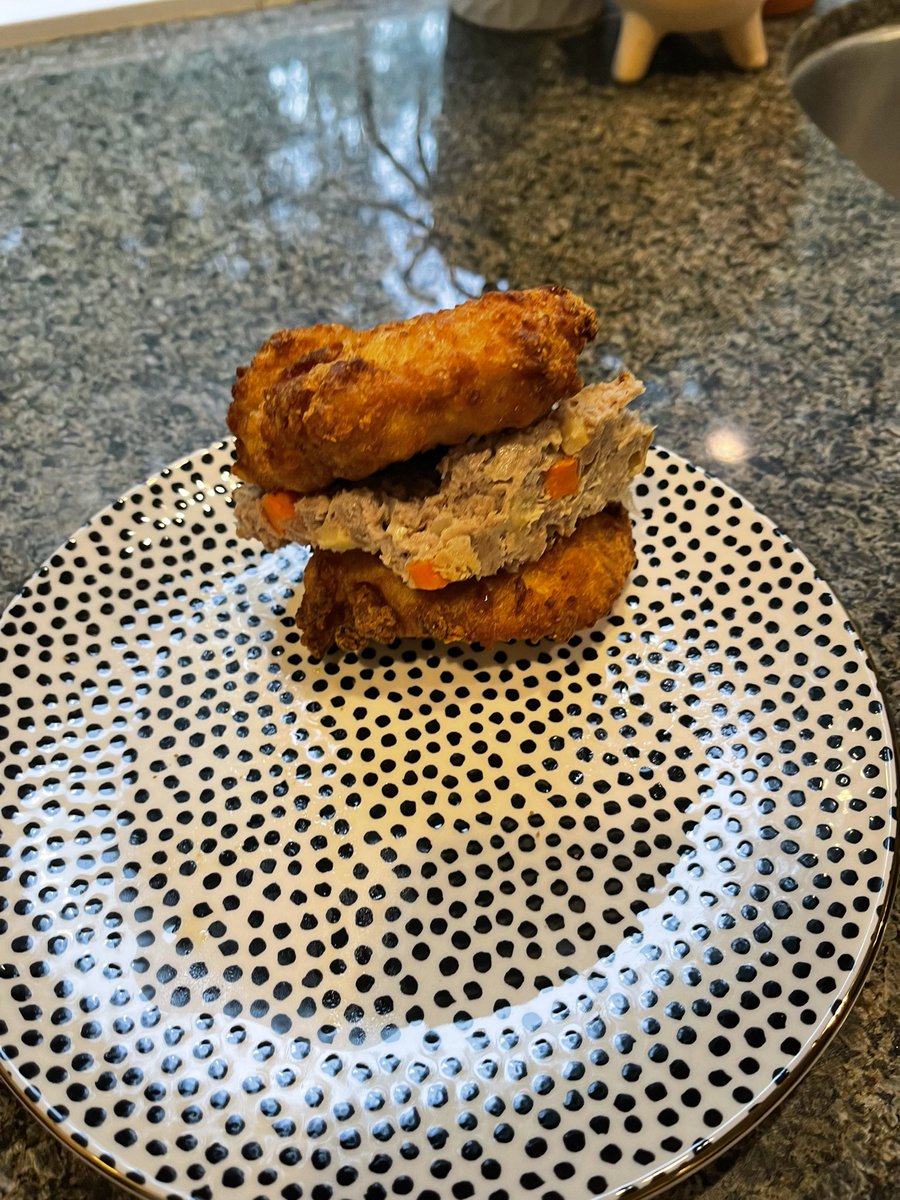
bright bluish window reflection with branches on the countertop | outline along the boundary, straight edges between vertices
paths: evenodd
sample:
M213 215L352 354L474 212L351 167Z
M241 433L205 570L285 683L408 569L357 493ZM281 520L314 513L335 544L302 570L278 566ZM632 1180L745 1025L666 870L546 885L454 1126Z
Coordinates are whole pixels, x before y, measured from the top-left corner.
M277 196L270 218L314 233L329 193L349 192L372 239L372 270L401 317L458 304L485 284L448 263L433 236L446 29L443 8L358 23L316 48L314 70L294 54L268 76L294 131L266 158Z

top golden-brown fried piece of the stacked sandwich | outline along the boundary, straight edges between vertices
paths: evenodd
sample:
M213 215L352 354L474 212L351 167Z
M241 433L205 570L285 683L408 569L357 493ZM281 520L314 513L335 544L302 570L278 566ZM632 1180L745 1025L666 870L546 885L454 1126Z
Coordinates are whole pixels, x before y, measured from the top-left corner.
M236 470L263 491L364 479L437 445L524 428L581 388L596 317L565 288L492 292L356 332L284 330L240 367Z

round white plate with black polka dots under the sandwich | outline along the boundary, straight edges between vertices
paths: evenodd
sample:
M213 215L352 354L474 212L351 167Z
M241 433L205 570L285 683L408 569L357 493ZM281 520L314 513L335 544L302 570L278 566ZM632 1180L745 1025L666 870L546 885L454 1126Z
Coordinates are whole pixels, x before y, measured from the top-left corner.
M229 449L12 602L0 1067L144 1195L587 1200L730 1145L859 989L881 696L810 564L655 450L568 644L310 659Z

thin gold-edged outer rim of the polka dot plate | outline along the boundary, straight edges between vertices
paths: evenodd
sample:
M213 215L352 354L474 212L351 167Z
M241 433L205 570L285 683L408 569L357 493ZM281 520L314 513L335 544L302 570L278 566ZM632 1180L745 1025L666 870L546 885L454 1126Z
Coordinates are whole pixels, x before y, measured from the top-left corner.
M168 476L178 470L186 468L187 463L193 462L197 458L202 458L204 455L217 454L222 451L228 451L234 445L233 437L218 438L206 445L198 446L190 454L181 455L179 458L164 464L154 474L148 475L143 481L134 484L127 491L120 493L114 499L110 499L107 504L97 509L91 516L84 520L76 529L73 529L62 542L60 542L54 550L52 550L42 562L34 569L34 571L23 581L19 588L10 596L7 602L4 605L2 612L0 612L0 620L2 620L10 608L22 599L23 592L28 588L34 580L37 580L42 572L44 572L52 565L53 558L60 553L64 548L68 546L76 538L78 538L84 530L90 528L98 518L113 509L119 503L126 500L134 492L140 491L149 484L155 482L160 476ZM752 500L749 500L743 492L736 488L732 484L726 480L719 479L712 472L707 470L704 467L697 466L685 455L679 454L676 450L670 450L668 446L660 445L655 440L650 445L650 454L660 454L664 460L674 461L677 464L688 468L690 472L696 472L698 475L706 480L726 487L734 497L737 497L758 520L763 521L769 529L779 538L781 541L786 541L794 553L799 554L800 558L806 563L815 575L815 578L821 581L830 592L836 605L841 610L841 613L847 623L848 631L856 638L859 644L860 654L864 659L865 666L871 673L872 682L875 683L878 692L878 700L883 706L884 720L887 724L887 732L889 734L888 749L892 752L893 762L898 761L898 746L900 746L900 725L898 725L894 713L892 710L887 694L882 686L881 676L878 668L876 667L872 656L869 652L866 641L860 636L856 623L853 620L852 613L844 604L840 593L834 588L834 586L824 578L818 569L816 568L812 559L806 554L805 550L798 545L793 538L790 536L780 526L778 526L762 509L760 509ZM640 476L638 476L640 478ZM223 476L224 479L224 476ZM637 503L631 505L631 514L637 510ZM893 808L894 810L900 806L900 773L894 769L894 791L893 791ZM895 818L896 824L896 818ZM662 1192L674 1187L678 1183L684 1182L691 1175L697 1174L701 1170L710 1166L719 1158L726 1154L728 1151L733 1150L746 1136L767 1121L776 1109L779 1109L784 1100L791 1096L800 1082L810 1074L812 1068L820 1062L824 1055L828 1046L833 1043L836 1033L844 1026L845 1021L850 1016L854 1006L859 1001L859 997L869 980L869 976L878 956L880 950L884 944L884 938L887 935L888 924L890 922L890 916L894 908L894 904L900 895L900 847L896 845L896 838L894 839L894 845L886 850L887 856L887 874L886 874L886 887L883 892L883 899L880 906L880 913L877 917L877 924L875 925L868 942L860 948L860 956L857 959L857 965L854 968L854 974L851 978L850 985L845 994L840 997L838 1002L838 1008L832 1013L829 1020L820 1030L817 1037L808 1043L805 1050L800 1054L797 1062L791 1067L787 1073L774 1082L774 1086L767 1088L767 1094L763 1099L752 1104L751 1108L736 1121L730 1128L727 1128L721 1134L713 1134L706 1139L698 1148L689 1147L686 1153L683 1152L680 1163L670 1168L660 1168L650 1175L643 1177L638 1182L624 1183L614 1188L612 1192L605 1193L606 1200L616 1200L618 1196L624 1196L628 1194L632 1196L634 1200L652 1200L652 1198L660 1195ZM124 1171L116 1166L110 1166L104 1163L97 1154L95 1154L90 1146L82 1146L73 1135L68 1134L65 1128L55 1123L42 1109L35 1104L25 1092L18 1086L14 1070L11 1070L12 1061L8 1060L2 1052L0 1052L0 1085L4 1090L17 1100L23 1110L34 1120L36 1120L46 1130L48 1130L53 1138L65 1146L67 1150L72 1151L83 1163L85 1163L94 1171L107 1178L108 1181L116 1184L124 1192L132 1196L139 1198L139 1200L169 1200L176 1193L172 1190L166 1190L164 1186L158 1188L151 1183L138 1183L130 1180ZM125 1165L125 1164L122 1164ZM187 1195L187 1193L185 1193ZM598 1200L598 1198L592 1198L592 1200Z

